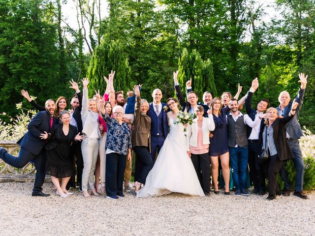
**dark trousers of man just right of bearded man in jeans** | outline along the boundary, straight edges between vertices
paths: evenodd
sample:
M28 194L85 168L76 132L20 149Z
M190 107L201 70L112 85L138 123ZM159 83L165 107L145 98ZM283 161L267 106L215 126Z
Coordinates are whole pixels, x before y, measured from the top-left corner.
M259 189L258 172L259 165L257 163L257 158L259 154L258 140L250 141L248 145L248 164L250 167L250 177L251 182L254 185L254 189Z

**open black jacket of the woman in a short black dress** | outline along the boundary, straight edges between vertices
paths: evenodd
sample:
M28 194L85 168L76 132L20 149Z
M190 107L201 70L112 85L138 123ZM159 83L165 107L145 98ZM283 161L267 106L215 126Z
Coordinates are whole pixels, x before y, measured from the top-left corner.
M46 150L51 150L58 145L57 140L60 140L63 133L63 124L56 124L54 129L51 130L50 136L48 137L47 144L45 145ZM74 142L74 138L77 135L77 128L74 125L69 125L69 133L68 133L68 146L70 147L72 142Z

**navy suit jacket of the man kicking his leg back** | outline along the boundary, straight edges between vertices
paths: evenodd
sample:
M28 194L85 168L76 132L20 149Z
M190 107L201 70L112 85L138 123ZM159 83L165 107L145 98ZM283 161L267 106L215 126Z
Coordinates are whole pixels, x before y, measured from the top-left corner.
M56 118L53 117L54 128ZM24 148L34 155L37 155L44 148L47 140L41 139L39 136L45 131L50 133L51 116L47 111L38 112L28 124L28 132L17 142L21 148Z

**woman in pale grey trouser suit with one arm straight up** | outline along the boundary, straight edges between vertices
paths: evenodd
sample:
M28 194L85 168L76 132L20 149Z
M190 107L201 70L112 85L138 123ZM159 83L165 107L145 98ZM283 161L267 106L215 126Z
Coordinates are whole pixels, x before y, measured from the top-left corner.
M89 80L83 78L82 83L83 99L81 118L83 124L82 133L85 136L81 145L83 156L82 194L85 198L90 198L90 194L99 196L94 187L94 172L101 134L99 130L97 102L93 99L88 100Z

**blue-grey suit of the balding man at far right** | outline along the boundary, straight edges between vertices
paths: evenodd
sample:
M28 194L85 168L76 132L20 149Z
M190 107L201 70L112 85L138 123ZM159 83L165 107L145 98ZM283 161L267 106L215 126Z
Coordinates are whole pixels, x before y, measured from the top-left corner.
M303 191L303 182L304 182L304 162L302 157L302 152L300 149L299 138L303 135L301 126L299 124L299 115L300 109L303 104L305 89L299 89L298 94L295 98L295 101L299 104L295 111L295 116L286 124L286 132L289 134L290 139L288 139L288 144L294 154L294 165L296 169L296 183L295 183L295 191L300 192ZM289 115L291 111L293 100L284 108L283 116L286 117ZM277 107L277 110L280 111L280 106ZM285 166L285 165L284 165ZM284 169L284 166L281 169L281 177L284 180L284 188L290 189L290 183L288 180L287 172Z

